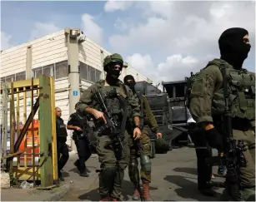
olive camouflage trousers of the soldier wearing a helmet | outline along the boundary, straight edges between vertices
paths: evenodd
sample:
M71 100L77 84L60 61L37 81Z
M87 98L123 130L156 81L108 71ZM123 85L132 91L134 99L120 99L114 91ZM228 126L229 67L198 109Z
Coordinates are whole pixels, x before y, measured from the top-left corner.
M124 170L128 166L130 150L128 147L128 133L125 131L123 140L123 151L121 159L117 160L114 152L113 141L109 135L96 135L98 160L101 171L99 178L99 195L101 198L113 197L120 199Z

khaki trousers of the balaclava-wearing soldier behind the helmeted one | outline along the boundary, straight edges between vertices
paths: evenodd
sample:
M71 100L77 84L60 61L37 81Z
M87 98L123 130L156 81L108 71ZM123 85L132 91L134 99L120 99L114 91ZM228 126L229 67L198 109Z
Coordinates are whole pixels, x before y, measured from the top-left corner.
M149 131L147 126L143 128L139 140L133 140L133 134L130 134L130 160L128 164L128 174L134 185L139 183L138 157L140 158L140 179L143 183L151 182L151 145Z

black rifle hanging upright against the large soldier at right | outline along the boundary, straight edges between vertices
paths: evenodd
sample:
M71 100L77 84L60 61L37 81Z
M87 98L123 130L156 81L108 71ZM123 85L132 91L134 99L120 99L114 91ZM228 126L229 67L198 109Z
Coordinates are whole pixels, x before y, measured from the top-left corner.
M224 64L221 64L220 70L223 75L223 94L225 101L225 110L223 114L223 122L224 122L224 155L223 157L209 158L207 161L208 165L226 165L227 167L227 175L225 180L225 187L228 191L228 196L231 200L241 201L242 196L239 192L241 187L241 179L240 179L240 168L246 167L247 161L243 155L244 146L243 140L238 140L238 144L236 145L236 140L233 140L233 129L232 129L232 119L230 112L229 101L229 93L228 93L228 84L227 84L227 73Z

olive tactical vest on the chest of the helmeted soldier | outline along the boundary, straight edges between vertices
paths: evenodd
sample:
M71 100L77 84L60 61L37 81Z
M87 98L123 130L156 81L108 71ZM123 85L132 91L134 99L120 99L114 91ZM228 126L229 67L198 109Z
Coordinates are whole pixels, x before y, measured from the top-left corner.
M97 82L97 89L101 92L105 105L111 112L111 115L118 121L118 126L121 126L123 119L123 109L121 107L121 102L118 99L118 96L127 97L128 89L123 86L104 86L105 81L101 80ZM123 91L120 90L120 87L123 88ZM96 108L99 110L98 104Z

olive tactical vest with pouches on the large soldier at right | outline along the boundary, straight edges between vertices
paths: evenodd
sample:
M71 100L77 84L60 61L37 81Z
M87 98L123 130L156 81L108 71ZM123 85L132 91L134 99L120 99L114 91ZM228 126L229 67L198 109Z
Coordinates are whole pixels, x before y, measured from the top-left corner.
M255 120L255 77L245 69L235 70L228 68L226 62L215 59L208 63L216 65L220 71L226 68L229 103L231 105L231 114L233 118ZM208 67L207 66L207 67ZM225 79L225 78L223 78ZM223 87L216 91L213 96L213 115L223 115L225 101L223 96Z

